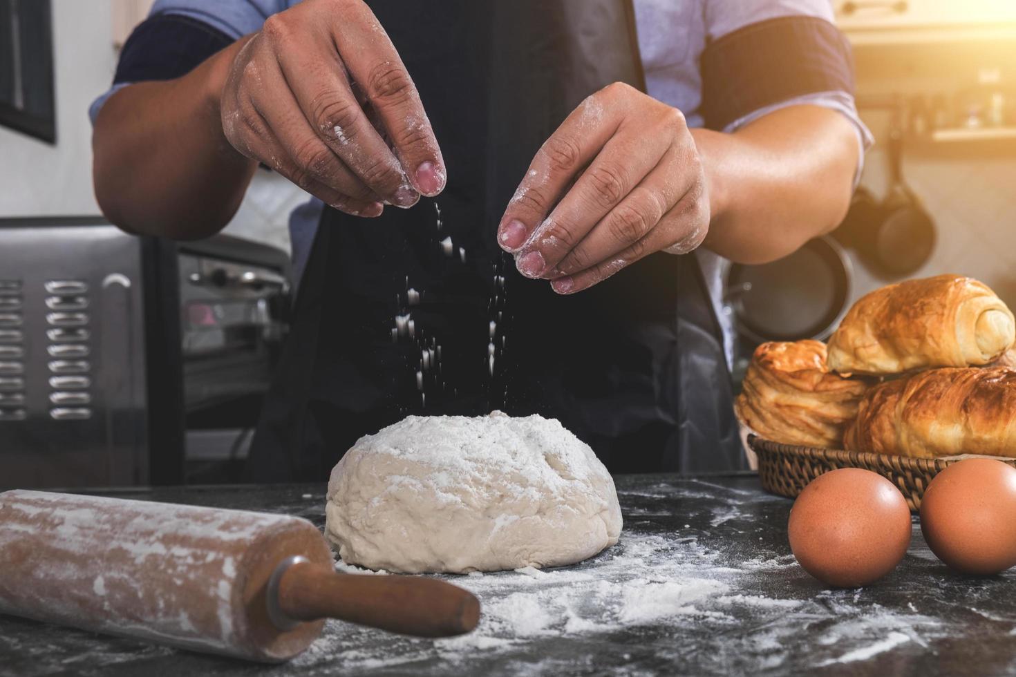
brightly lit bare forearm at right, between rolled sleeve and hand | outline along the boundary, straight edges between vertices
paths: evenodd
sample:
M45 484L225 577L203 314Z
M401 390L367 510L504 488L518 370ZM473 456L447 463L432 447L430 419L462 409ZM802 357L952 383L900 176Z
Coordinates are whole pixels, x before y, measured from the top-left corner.
M692 130L712 214L703 245L738 263L784 257L829 232L849 205L858 137L835 111L795 106L734 134Z

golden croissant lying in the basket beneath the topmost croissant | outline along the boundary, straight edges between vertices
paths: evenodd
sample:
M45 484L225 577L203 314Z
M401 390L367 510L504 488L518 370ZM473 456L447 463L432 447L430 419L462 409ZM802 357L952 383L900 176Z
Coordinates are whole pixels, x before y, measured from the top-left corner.
M920 371L870 390L843 435L855 452L936 458L1016 457L1016 371Z

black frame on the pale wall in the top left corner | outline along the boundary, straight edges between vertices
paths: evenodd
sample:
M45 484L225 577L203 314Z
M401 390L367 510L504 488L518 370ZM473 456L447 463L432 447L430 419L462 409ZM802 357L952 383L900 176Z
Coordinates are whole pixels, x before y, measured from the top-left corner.
M0 0L0 125L56 143L50 0Z

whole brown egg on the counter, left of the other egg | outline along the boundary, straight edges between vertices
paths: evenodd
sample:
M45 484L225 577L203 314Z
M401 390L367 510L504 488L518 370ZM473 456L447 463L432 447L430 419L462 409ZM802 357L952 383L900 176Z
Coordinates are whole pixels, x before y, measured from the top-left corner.
M895 568L910 543L910 511L892 482L861 468L819 475L790 509L790 550L806 571L859 588Z

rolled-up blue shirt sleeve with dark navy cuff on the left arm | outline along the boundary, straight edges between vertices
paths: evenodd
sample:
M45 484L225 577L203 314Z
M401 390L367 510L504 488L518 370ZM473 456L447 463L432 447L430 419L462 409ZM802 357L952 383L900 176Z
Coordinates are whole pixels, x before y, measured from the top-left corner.
M155 0L124 44L113 85L88 108L89 118L94 123L107 99L129 84L186 75L289 5L287 0Z

